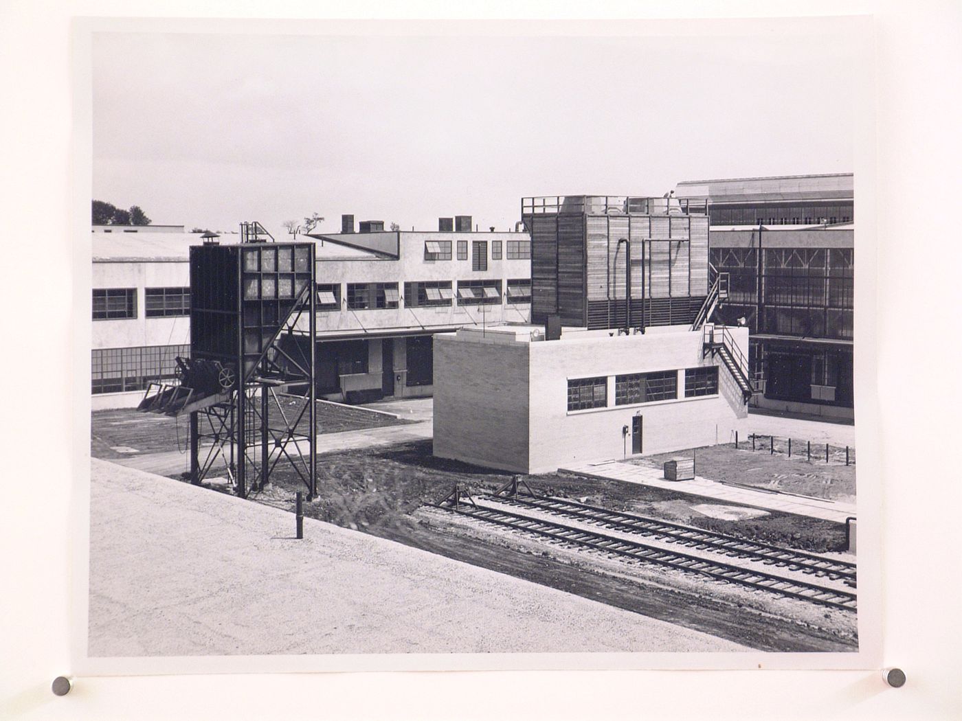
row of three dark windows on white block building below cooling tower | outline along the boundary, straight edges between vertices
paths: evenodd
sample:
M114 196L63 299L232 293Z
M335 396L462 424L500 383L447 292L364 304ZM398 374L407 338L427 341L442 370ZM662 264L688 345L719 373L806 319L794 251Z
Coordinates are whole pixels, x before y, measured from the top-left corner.
M719 392L717 365L685 369L685 398L715 395ZM615 405L673 400L678 397L678 371L628 373L615 376ZM568 382L568 410L608 407L608 378L576 378Z

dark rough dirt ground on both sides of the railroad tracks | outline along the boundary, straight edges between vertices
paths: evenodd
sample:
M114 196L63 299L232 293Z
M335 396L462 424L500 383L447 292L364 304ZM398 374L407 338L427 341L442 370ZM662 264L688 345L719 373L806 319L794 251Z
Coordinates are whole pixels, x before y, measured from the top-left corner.
M810 609L799 616L797 605L791 610L777 604L750 608L745 599L731 596L726 589L713 593L704 583L692 584L688 578L626 576L619 570L621 566L599 567L594 560L585 562L583 556L572 559L554 549L547 552L532 548L514 535L466 527L446 511L431 510L425 504L441 501L455 484L478 492L494 491L507 483L511 475L437 459L431 455L430 441L322 454L317 460L318 498L304 507L305 514L312 518L671 620L754 648L844 651L856 643L854 614L849 613L841 621L838 618L838 613L845 611L820 615L820 609L816 609L816 616L807 618L805 614L811 615ZM270 487L251 494L252 500L293 510L294 494L306 487L282 466L278 466L273 478ZM631 510L681 522L693 522L700 517L727 523L731 528L725 531L733 535L757 537L754 526L771 524L774 519L791 530L785 545L809 547L804 542L809 536L844 538L844 528L839 524L781 513L720 522L695 510L693 507L699 503L691 497L650 486L560 474L530 476L526 481L536 492L585 499L613 510Z

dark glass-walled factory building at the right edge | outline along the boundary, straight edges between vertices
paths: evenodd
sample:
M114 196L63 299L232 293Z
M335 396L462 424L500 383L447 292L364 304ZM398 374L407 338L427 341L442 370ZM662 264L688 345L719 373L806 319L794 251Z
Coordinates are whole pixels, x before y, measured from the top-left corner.
M710 260L729 279L714 317L751 331L751 405L853 419L853 176L691 181L676 194L708 204Z

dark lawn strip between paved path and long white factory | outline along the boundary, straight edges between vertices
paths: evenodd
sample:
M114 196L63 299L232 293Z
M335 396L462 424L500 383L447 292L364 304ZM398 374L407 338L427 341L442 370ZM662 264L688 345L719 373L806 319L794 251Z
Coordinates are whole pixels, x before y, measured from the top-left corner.
M296 417L307 401L300 396L278 395L278 402L268 404L271 427L282 427L284 415ZM317 433L334 434L365 428L398 426L411 421L384 413L318 403L315 414ZM304 413L297 428L305 432L308 416ZM202 432L205 429L202 429ZM206 429L210 431L210 429ZM135 409L94 410L90 413L90 453L100 459L120 459L135 453L161 453L173 449L186 450L187 417L172 418L161 413L145 413ZM119 450L118 450L119 449Z

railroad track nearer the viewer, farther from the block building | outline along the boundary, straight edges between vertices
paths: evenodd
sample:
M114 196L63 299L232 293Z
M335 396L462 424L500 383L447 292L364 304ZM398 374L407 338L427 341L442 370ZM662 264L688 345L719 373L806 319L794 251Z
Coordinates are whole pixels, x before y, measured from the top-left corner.
M503 500L500 497L494 498ZM856 610L856 595L836 588L802 580L787 579L764 571L725 563L721 560L706 559L681 551L658 548L618 536L586 531L583 528L533 518L510 510L486 508L467 502L451 504L447 500L441 504L432 504L432 506L520 533L548 538L561 544L588 548L624 559L634 559L697 573L717 581L745 585L830 608Z

